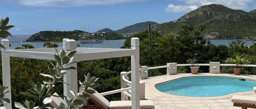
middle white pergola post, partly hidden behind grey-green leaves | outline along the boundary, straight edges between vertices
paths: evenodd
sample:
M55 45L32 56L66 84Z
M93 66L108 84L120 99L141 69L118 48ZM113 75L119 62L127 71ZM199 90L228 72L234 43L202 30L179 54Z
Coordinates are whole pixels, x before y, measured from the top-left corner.
M64 49L66 51L76 50L76 42L75 40L66 40L65 45L63 47L65 47ZM76 57L77 55L75 54L73 59L74 61L76 61ZM69 66L73 66L77 68L76 63L73 63L72 65L69 65ZM78 72L76 70L74 69L67 70L67 73L63 77L63 81L64 81L64 84L63 84L64 96L70 97L70 95L72 95L70 91L73 91L75 94L78 93Z

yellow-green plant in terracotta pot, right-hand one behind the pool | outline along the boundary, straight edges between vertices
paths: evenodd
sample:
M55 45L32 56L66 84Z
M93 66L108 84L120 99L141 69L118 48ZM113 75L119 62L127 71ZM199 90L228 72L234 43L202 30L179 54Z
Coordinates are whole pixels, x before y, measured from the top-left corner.
M236 55L235 58L228 58L226 60L226 63L233 63L236 64L236 67L234 68L234 74L235 75L240 75L241 73L241 67L238 65L242 65L243 63L247 62L245 57Z

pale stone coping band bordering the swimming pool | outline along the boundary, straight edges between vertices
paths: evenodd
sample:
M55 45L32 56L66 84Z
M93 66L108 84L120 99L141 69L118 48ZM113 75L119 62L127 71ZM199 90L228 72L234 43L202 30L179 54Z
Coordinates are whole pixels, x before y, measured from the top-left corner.
M170 80L175 80L179 78L185 78L189 76L226 76L226 77L233 77L233 78L241 78L241 79L250 79L250 80L255 80L256 81L256 75L234 75L234 74L211 74L211 73L199 73L199 74L177 74L177 75L162 75L162 76L154 76L151 78L148 78L147 84L148 88L156 94L163 95L165 97L169 98L178 98L178 99L205 99L205 100L213 100L213 99L227 99L233 97L233 95L247 95L247 94L254 94L253 91L250 92L239 92L239 93L232 93L228 95L223 95L223 96L218 96L218 97L186 97L186 96L181 96L181 95L175 95L175 94L169 94L169 93L164 93L160 92L155 86L157 84L161 84L163 82L167 82ZM157 81L152 81L157 79ZM149 81L151 80L151 81Z

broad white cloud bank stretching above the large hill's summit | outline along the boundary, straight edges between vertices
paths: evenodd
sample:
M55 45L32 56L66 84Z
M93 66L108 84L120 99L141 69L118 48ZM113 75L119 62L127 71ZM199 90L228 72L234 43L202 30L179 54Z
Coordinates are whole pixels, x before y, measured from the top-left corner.
M247 4L253 2L253 0L176 0L176 1L184 2L186 5L169 4L168 7L166 8L166 11L169 11L169 12L188 12L188 11L192 11L192 10L197 9L197 8L195 8L195 6L201 7L202 5L208 5L208 4L222 4L226 7L231 8L231 9L240 9L240 10L242 10L242 9L247 9L248 8ZM184 11L178 11L177 9L184 10Z

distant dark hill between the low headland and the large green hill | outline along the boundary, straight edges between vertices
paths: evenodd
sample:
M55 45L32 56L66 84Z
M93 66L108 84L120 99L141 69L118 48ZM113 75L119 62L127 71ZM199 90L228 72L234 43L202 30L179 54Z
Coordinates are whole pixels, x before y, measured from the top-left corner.
M148 28L148 24L154 25L158 23L151 22L151 21L136 23L133 25L129 25L128 27L124 27L122 29L116 30L115 32L122 35L132 35L132 34L139 33L143 30L146 30Z

